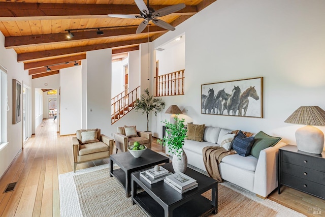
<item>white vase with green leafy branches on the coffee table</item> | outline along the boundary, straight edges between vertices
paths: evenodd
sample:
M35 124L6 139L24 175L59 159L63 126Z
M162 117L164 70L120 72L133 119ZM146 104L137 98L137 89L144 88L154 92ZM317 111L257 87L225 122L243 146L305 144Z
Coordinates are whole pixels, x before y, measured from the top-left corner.
M183 150L184 140L186 138L187 129L184 126L185 119L179 119L176 115L174 123L167 120L163 121L166 125L167 136L158 139L157 143L168 146L168 152L173 153L173 168L175 172L184 173L187 166L187 157Z

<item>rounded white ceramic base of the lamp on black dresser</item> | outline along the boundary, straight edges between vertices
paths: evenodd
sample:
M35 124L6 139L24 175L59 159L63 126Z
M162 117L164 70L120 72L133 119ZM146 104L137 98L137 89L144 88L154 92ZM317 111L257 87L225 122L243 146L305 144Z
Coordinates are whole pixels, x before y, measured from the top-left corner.
M296 131L298 150L320 154L324 147L324 134L318 128L305 126Z

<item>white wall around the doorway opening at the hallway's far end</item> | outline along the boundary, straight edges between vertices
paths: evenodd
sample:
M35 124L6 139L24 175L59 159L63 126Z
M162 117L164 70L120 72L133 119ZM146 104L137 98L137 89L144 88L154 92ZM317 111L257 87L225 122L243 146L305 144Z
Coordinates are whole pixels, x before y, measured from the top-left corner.
M59 89L60 89L60 74L56 75L50 75L50 76L45 76L41 78L35 78L32 79L32 133L35 134L35 129L39 126L39 124L42 122L42 119L35 121L35 89L36 88L42 88L42 89L57 89L57 116L56 116L56 125L57 125L57 132L60 131L59 126L60 126L60 107L59 107ZM44 102L44 99L43 99ZM46 115L46 113L43 113ZM47 116L44 116L44 118L47 118Z

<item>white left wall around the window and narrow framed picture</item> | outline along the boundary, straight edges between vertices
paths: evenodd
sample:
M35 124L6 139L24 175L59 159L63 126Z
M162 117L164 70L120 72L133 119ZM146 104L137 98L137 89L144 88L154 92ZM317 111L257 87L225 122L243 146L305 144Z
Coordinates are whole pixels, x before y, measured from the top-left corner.
M22 121L15 125L12 124L12 79L18 80L21 84L31 86L31 76L28 76L28 71L24 70L23 63L17 63L17 53L13 49L6 49L4 44L5 37L0 33L0 64L8 70L8 105L10 107L7 113L9 144L0 150L0 177L7 170L23 144Z

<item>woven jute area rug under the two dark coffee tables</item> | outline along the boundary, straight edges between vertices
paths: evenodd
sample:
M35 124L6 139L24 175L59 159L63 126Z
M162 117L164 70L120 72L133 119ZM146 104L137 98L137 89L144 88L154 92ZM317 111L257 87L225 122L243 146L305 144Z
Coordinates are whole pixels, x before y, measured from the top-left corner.
M59 175L61 216L147 216L115 178L109 165L101 165ZM211 199L210 191L204 194ZM305 216L229 182L218 185L218 214L209 216Z

